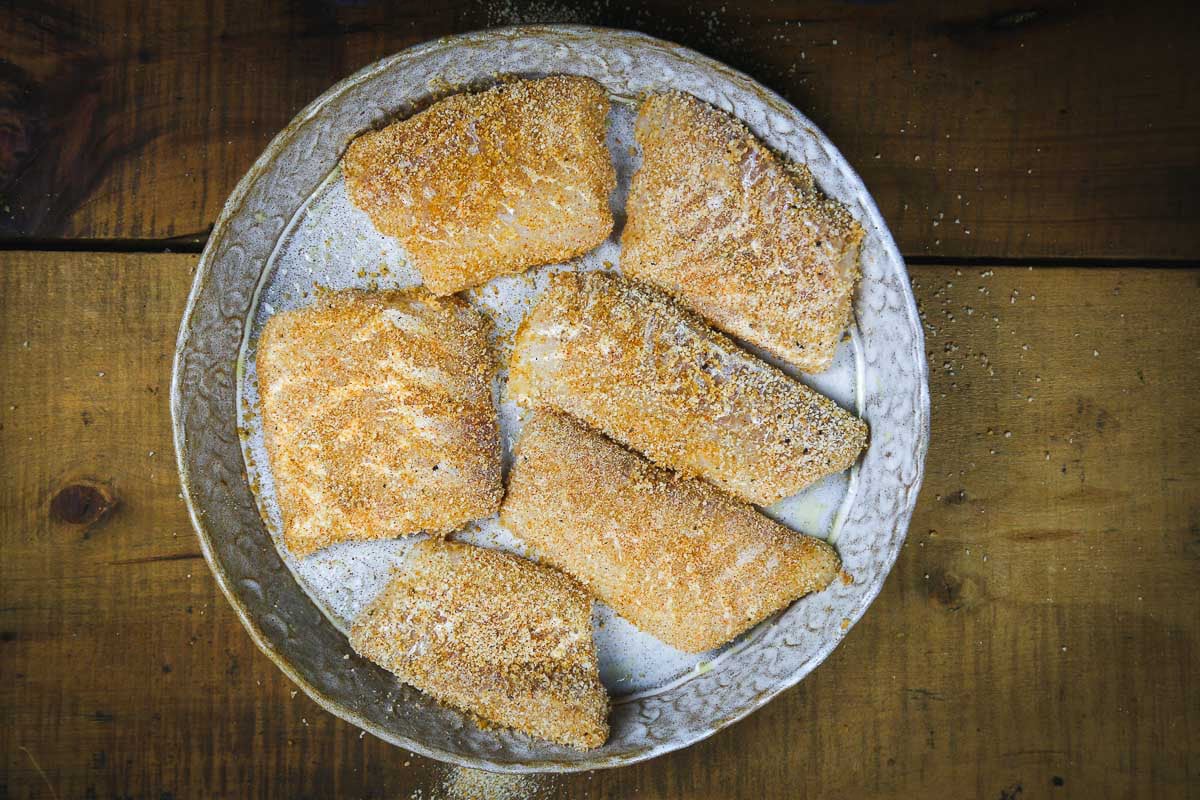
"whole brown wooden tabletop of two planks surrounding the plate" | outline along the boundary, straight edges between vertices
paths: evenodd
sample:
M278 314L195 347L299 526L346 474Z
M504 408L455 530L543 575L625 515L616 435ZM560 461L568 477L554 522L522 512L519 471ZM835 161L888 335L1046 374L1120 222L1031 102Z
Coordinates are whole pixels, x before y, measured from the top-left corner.
M883 593L683 752L450 768L251 643L179 494L175 332L222 203L334 82L526 22L780 91L880 203L932 444ZM1192 4L0 6L0 799L1200 796L1200 14Z

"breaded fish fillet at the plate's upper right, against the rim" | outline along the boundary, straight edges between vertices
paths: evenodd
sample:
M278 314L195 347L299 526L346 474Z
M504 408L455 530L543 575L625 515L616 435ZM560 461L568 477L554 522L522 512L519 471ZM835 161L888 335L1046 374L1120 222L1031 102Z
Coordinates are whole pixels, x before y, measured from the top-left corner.
M636 137L620 269L732 336L826 369L850 321L858 222L806 167L689 95L648 98Z

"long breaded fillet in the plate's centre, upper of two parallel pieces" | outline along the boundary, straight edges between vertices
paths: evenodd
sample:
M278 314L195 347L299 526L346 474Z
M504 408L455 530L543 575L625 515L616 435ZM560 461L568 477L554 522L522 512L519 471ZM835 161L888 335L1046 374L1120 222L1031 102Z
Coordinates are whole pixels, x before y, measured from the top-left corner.
M560 273L517 330L509 396L760 505L850 467L866 425L658 290Z

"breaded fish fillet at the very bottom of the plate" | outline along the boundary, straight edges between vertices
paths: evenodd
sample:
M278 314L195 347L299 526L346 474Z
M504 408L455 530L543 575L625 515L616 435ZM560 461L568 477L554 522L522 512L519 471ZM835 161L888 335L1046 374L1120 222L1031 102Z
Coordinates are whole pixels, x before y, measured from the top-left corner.
M354 621L350 644L487 722L580 750L608 738L592 600L508 553L427 540Z

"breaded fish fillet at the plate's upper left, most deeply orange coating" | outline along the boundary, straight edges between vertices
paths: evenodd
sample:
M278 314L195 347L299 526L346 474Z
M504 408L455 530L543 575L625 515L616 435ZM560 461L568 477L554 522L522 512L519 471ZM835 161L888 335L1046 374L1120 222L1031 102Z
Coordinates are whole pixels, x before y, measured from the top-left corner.
M434 294L564 261L612 230L607 113L570 76L454 95L350 143L346 188Z

